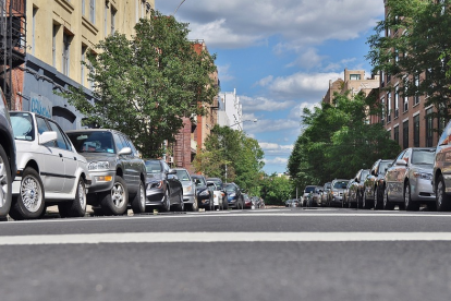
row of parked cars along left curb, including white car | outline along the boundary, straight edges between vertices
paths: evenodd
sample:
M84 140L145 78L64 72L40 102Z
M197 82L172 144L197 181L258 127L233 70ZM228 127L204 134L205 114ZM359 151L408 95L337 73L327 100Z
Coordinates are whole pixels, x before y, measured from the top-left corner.
M0 100L0 217L39 218L57 205L62 217L95 214L244 208L235 183L142 159L125 134L107 129L62 131L49 118L11 111Z

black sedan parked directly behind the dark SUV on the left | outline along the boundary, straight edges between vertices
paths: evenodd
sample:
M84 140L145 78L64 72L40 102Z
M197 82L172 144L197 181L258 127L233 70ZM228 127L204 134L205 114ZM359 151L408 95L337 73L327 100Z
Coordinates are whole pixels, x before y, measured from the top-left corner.
M183 203L183 185L176 177L176 171L168 164L158 159L145 159L146 165L146 206L159 206L170 212L173 205L181 212Z

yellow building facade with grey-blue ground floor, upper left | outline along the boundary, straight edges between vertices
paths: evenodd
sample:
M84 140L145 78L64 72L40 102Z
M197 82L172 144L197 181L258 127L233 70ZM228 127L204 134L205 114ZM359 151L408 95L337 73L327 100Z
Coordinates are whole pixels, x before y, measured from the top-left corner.
M27 0L28 47L12 109L50 117L64 130L80 129L83 116L54 91L82 85L89 99L90 83L81 63L87 51L115 31L131 36L154 8L155 0Z

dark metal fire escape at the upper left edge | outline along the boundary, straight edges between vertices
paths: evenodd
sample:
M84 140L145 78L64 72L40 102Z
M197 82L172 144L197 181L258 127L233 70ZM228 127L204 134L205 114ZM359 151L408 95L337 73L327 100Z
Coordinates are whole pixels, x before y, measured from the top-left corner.
M0 0L0 84L9 109L13 108L13 70L25 62L25 1Z

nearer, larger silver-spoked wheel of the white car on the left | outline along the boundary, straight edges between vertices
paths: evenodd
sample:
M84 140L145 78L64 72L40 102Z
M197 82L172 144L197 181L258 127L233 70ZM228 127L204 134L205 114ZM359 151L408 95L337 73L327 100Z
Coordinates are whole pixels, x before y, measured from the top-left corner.
M25 168L21 190L12 201L10 216L13 219L31 219L41 216L45 208L45 192L39 173L31 167Z

